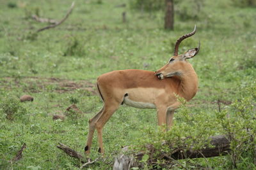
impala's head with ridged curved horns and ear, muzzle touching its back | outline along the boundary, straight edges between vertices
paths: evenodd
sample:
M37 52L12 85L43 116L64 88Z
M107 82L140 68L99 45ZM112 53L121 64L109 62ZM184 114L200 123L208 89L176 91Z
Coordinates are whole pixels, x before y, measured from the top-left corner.
M161 69L155 72L155 75L162 80L163 78L172 77L172 76L182 76L182 74L186 74L189 69L191 69L191 64L186 61L186 59L191 59L195 57L195 55L200 50L200 42L196 48L191 48L188 52L178 55L179 45L182 40L193 36L196 32L196 25L192 32L181 36L175 43L173 57L169 60L169 62L161 67Z

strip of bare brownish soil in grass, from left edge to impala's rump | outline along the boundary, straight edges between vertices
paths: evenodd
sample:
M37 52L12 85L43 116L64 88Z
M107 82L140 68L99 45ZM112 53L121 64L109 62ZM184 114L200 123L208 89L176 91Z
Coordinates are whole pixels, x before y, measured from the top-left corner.
M74 90L85 90L91 94L97 94L95 85L86 80L71 81L60 78L42 78L28 76L22 78L4 77L0 80L0 88L12 90L14 87L28 92L72 92Z

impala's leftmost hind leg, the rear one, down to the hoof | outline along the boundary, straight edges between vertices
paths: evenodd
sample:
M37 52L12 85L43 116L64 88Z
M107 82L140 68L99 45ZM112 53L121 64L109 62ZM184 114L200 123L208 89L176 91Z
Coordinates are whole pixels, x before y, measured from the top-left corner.
M87 144L84 148L84 152L86 154L90 153L91 146L92 146L92 138L93 138L93 134L94 134L94 131L95 131L95 122L96 122L96 120L98 120L98 118L102 114L103 110L104 110L104 106L93 118L91 118L89 120L89 134L88 134Z

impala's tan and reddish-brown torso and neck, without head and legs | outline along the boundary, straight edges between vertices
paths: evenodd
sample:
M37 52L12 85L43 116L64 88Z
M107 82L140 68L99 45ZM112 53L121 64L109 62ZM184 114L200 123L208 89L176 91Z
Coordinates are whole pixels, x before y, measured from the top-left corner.
M102 74L97 85L103 101L111 97L111 100L120 104L125 97L129 97L135 102L156 106L161 102L161 105L171 107L176 101L175 95L184 97L187 101L195 96L198 79L191 66L183 76L172 76L163 80L159 80L153 71L127 69Z

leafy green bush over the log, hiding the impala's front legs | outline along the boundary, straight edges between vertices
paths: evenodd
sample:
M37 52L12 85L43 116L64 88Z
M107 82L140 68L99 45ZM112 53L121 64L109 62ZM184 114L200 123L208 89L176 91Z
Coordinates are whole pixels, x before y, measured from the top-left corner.
M139 139L141 145L139 145L140 148L138 150L146 150L147 153L148 144L150 144L156 148L154 150L154 157L156 158L161 157L163 153L171 157L177 148L198 150L206 146L211 147L209 137L216 134L216 127L218 127L216 121L214 121L214 117L203 112L193 113L186 106L184 99L180 98L179 100L182 104L179 108L179 114L175 114L175 122L172 130L163 132L161 128L158 130L152 127L146 128L143 138ZM166 145L163 145L163 141L165 141ZM186 152L185 149L184 152ZM170 164L173 164L173 162L163 161L161 159L157 160L157 164L162 168L164 166L168 168Z

